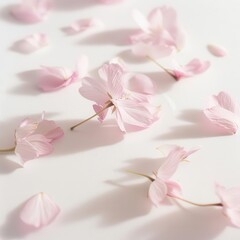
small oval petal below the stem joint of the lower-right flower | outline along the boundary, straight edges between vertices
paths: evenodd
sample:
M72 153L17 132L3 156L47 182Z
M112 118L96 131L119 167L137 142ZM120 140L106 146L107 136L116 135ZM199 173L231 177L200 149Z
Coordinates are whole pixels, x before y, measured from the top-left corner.
M161 202L167 196L167 186L166 184L159 178L154 180L149 188L148 196L151 202L156 206L159 207Z

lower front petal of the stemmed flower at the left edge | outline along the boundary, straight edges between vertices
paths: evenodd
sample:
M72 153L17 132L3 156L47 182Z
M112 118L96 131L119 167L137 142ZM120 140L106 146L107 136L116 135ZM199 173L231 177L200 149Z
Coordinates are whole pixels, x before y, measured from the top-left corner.
M22 163L40 156L48 155L53 151L49 140L40 135L30 135L16 142L15 154L20 157Z

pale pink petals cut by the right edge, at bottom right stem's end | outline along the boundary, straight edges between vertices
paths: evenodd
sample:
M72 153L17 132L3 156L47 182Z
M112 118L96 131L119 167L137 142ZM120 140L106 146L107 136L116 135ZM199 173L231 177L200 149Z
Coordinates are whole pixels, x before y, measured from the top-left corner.
M216 194L222 202L224 215L235 227L240 228L240 187L226 189L216 185L215 188Z

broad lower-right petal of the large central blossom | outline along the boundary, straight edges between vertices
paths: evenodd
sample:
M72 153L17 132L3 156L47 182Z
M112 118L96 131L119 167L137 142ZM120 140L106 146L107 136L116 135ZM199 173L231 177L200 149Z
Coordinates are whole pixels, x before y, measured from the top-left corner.
M136 128L147 128L159 119L158 108L149 103L131 100L113 100L112 102L116 106L117 123L123 132L134 131Z

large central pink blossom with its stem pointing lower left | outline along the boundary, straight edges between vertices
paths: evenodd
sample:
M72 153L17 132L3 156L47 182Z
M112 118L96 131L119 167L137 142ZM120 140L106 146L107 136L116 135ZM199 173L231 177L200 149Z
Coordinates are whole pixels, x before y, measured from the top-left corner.
M95 114L71 130L96 116L102 122L110 108L123 132L147 128L158 120L159 107L150 103L154 92L150 78L129 73L119 63L104 64L98 73L100 79L86 77L79 89L83 97L95 102Z

